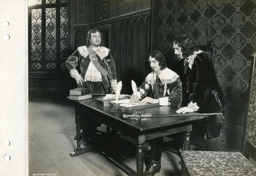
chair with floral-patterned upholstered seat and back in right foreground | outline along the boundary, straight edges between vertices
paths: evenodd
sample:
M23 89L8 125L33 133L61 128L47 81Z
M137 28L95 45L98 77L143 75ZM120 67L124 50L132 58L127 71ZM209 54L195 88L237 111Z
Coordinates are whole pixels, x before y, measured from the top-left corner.
M249 82L248 110L243 144L239 152L182 151L182 175L256 175L249 161L256 161L256 52L253 54Z

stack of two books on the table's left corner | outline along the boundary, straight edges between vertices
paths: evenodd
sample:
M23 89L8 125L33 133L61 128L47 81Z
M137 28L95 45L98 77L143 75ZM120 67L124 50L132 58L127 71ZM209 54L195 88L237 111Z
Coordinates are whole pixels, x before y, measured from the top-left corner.
M83 100L92 98L91 90L89 88L70 89L69 92L69 99Z

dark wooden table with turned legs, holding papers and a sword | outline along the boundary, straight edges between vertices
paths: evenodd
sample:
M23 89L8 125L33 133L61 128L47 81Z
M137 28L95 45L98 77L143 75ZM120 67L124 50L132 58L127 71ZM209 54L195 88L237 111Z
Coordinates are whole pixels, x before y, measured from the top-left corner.
M134 140L137 148L137 172L124 163L115 161L111 157L107 157L127 175L143 175L143 144L146 140L184 132L184 149L190 150L190 132L192 131L192 123L194 121L207 118L207 115L198 113L177 114L176 111L178 108L173 106L155 106L137 110L143 111L144 114L151 113L153 114L152 117L141 118L140 120L129 120L123 118L122 114L133 114L134 110L110 112L111 107L96 105L95 98L74 102L76 113L77 148L74 152L70 153L70 156L82 155L90 152L92 149L90 147L81 148L80 123L81 113L83 113Z

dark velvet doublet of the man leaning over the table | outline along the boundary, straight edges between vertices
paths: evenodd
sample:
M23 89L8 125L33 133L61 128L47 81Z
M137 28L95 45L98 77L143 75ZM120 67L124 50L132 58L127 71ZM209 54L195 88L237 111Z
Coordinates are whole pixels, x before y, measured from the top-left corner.
M186 66L185 70L187 73L184 81L186 83L183 84L183 105L191 101L197 103L198 113L220 111L220 106L212 94L212 90L217 91L223 107L225 106L225 98L210 58L205 53L199 53L195 57L192 69Z

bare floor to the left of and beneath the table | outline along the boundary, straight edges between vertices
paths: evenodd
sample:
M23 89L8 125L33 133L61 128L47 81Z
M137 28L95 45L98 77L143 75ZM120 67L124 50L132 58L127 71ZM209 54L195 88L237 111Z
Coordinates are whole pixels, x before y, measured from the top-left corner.
M102 125L100 129L104 130L106 127ZM126 175L98 152L70 157L70 152L76 148L75 135L73 102L68 99L30 98L29 175ZM173 143L170 138L164 140L165 144ZM135 170L135 154L123 156L122 162ZM178 155L165 150L162 155L161 172L156 175L181 175L179 162Z

